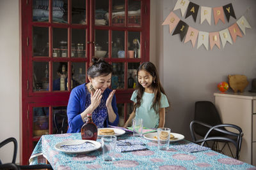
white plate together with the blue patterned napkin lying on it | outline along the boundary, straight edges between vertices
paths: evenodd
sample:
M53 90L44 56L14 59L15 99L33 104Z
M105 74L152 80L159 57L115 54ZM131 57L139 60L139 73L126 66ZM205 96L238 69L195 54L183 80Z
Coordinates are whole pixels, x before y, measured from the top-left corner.
M56 150L65 153L86 153L98 150L101 144L92 140L70 140L57 143L55 145Z

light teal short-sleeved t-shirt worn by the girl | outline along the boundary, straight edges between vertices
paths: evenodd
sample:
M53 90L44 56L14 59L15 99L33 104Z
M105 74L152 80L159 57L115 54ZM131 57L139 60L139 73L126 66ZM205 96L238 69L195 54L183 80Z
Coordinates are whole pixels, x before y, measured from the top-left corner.
M136 103L138 90L135 90L132 93L131 101ZM159 125L159 113L154 111L152 108L152 103L154 100L154 94L150 94L147 92L143 93L141 106L136 109L135 118L143 118L143 127L147 128L157 128ZM167 97L161 93L161 103L159 108L167 108L169 106Z

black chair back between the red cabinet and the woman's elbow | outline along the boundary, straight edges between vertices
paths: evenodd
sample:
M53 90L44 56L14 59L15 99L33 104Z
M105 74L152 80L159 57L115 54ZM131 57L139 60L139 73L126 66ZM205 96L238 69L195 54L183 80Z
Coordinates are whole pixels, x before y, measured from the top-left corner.
M65 111L54 113L53 122L56 128L56 134L67 133L68 130L68 117Z

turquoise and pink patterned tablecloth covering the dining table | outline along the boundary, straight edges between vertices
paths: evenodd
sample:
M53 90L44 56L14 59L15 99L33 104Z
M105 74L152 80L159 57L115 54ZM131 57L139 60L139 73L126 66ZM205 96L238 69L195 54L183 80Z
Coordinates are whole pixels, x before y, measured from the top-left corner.
M134 137L131 132L117 136L118 141L142 143L143 150L115 152L113 161L104 161L102 148L87 153L66 153L56 149L63 141L81 139L81 133L47 134L35 146L29 164L51 164L53 169L256 169L256 167L212 151L186 139L170 142L168 150L159 150L157 141ZM101 139L97 138L101 143ZM183 150L193 146L197 150ZM195 147L196 146L196 147ZM118 146L116 146L118 147ZM127 146L128 147L128 146ZM200 150L202 147L202 150ZM184 148L184 147L183 147ZM199 150L198 150L199 148Z

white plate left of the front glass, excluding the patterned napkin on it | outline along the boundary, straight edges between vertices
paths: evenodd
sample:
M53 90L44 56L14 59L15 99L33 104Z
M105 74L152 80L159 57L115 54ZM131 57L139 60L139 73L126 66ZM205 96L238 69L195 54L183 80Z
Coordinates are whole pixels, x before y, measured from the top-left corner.
M61 148L63 145L80 145L83 144L85 141L88 141L90 143L93 143L95 146L90 149L86 150L76 150L76 151L70 151L70 150L65 150L65 148ZM70 140L70 141L63 141L61 143L57 143L55 145L56 150L59 150L61 152L65 153L86 153L86 152L92 152L93 150L98 150L101 147L101 144L97 141L92 141L92 140Z

